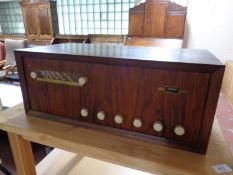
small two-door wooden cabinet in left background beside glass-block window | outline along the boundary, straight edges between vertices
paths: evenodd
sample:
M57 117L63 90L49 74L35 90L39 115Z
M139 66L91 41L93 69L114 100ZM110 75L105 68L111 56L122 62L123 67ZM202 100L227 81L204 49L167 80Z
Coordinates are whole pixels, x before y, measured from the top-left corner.
M23 0L20 2L26 37L30 44L49 44L58 33L56 2Z

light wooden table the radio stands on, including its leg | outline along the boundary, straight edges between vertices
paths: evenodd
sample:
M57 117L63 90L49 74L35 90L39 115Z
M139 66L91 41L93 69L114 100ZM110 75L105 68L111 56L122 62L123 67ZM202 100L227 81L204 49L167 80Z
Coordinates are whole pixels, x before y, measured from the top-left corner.
M0 129L8 132L19 175L36 174L31 141L152 174L209 175L215 174L213 165L227 164L233 167L231 153L217 120L214 122L205 156L91 129L26 117L22 104L0 113Z

